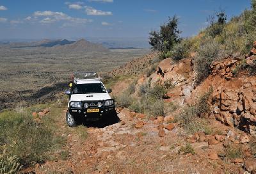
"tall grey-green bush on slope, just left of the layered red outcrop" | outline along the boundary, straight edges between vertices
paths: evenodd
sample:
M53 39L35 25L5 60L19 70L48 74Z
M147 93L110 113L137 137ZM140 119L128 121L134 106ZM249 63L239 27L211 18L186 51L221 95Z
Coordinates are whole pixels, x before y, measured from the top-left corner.
M195 83L199 84L211 74L211 63L216 60L220 53L220 45L209 41L200 46L198 56L195 59Z

